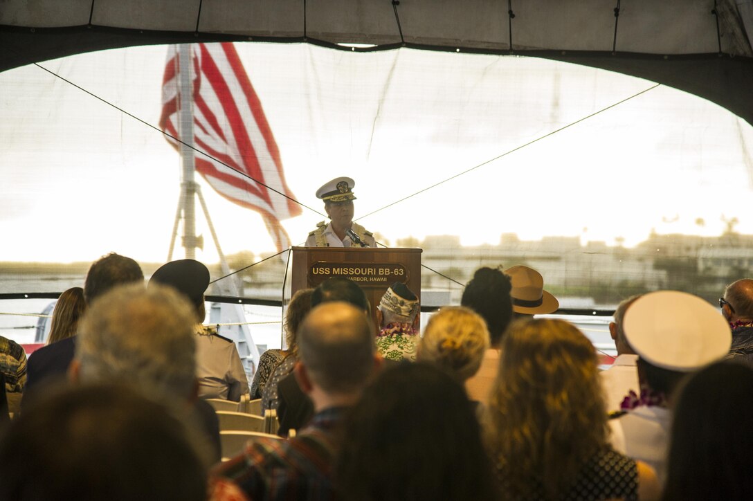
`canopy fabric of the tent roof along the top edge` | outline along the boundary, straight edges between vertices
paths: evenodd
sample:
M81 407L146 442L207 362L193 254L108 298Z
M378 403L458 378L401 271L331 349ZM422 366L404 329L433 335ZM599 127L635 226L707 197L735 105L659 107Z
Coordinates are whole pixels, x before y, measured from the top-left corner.
M753 124L751 38L751 0L6 0L0 71L178 41L513 52L647 78Z

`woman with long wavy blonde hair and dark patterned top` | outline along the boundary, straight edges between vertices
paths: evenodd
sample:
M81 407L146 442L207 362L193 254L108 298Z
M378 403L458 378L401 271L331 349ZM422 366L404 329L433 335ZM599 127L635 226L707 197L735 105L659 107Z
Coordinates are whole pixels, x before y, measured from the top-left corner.
M508 499L654 499L651 467L614 451L593 344L559 319L505 335L486 446Z

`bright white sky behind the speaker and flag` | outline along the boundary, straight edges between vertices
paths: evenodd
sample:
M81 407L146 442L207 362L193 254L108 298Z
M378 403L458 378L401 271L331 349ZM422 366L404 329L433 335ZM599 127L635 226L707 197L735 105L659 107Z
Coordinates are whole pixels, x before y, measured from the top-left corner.
M722 216L753 233L753 128L697 96L531 58L237 47L297 199L323 213L316 188L350 176L356 218L379 211L359 222L393 244L517 233L630 246L652 228L718 235ZM165 57L137 47L42 66L156 126ZM35 66L0 74L0 115L0 261L167 258L180 160L160 133ZM273 251L257 213L201 183L225 254ZM304 208L283 225L299 244L321 220ZM202 216L197 231L197 258L216 261Z

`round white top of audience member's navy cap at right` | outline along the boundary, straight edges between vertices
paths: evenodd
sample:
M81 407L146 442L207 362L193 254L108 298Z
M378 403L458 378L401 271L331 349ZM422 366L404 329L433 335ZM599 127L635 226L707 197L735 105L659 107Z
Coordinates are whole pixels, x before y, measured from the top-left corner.
M707 301L678 291L650 292L625 313L625 337L638 356L669 371L696 371L730 351L727 321Z

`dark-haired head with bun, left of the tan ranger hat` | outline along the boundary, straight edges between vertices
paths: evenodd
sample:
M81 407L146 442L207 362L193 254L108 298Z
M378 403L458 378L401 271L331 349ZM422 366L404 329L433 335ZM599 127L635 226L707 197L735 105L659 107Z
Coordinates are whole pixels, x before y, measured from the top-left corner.
M461 306L471 308L486 321L492 346L498 346L513 318L510 278L489 267L476 270L463 290Z

